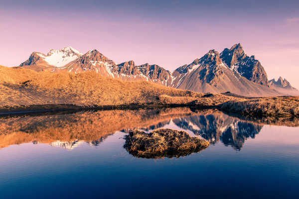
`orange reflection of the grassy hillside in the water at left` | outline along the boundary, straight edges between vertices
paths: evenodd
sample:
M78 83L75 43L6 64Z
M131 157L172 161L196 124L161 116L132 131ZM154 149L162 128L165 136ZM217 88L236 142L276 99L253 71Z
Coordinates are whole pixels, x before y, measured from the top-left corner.
M57 140L60 140L62 147L71 146L76 140L98 145L115 131L148 127L153 123L191 114L196 113L180 107L5 117L0 118L0 148L26 142L55 143Z

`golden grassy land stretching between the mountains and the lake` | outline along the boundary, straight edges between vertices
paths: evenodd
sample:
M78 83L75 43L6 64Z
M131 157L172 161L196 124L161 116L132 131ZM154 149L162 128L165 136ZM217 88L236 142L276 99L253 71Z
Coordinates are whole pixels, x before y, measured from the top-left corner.
M213 107L244 115L299 116L299 97L200 94L146 81L121 81L95 72L36 73L0 66L0 112L167 106Z

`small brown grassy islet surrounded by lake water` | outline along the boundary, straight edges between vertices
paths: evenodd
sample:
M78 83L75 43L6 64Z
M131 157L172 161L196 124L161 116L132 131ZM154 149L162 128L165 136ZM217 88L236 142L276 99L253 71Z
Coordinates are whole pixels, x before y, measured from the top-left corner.
M186 156L209 146L204 139L172 129L157 129L151 133L134 130L125 139L124 147L132 155L142 158Z

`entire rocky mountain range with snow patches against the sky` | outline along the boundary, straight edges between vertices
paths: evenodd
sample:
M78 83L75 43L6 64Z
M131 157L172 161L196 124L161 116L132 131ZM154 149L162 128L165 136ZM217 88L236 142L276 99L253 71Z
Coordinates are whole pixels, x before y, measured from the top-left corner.
M297 89L281 77L268 80L267 73L255 56L247 56L241 44L221 53L209 50L201 58L170 72L158 65L135 65L134 61L116 64L98 50L85 54L72 47L50 50L45 55L33 52L20 67L52 73L95 71L102 76L126 81L146 80L167 87L200 93L231 92L243 96L299 95Z

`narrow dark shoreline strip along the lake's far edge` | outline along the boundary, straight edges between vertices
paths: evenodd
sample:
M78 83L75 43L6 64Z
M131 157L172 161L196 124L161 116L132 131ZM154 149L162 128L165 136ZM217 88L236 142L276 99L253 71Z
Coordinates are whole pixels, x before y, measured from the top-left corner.
M74 104L34 104L34 105L21 105L21 106L6 106L0 108L0 117L12 115L34 115L38 113L73 113L79 111L97 111L97 110L134 110L134 109L154 109L154 108L174 108L174 107L188 107L191 110L199 109L218 109L229 115L238 115L241 117L273 117L273 118L299 118L299 115L279 115L279 114L262 114L260 111L240 111L240 107L227 108L227 106L220 105L199 105L194 103L183 104L163 104L163 103L144 103L144 104L123 104L123 105L89 105L80 106Z

